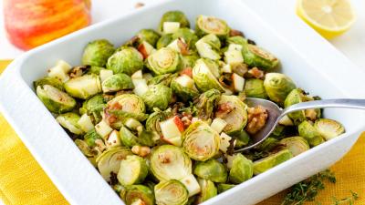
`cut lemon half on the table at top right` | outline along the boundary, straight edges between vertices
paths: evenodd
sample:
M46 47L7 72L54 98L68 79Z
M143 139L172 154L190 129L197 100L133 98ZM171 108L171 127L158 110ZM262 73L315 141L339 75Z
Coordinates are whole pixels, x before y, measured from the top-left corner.
M348 31L355 21L349 0L297 0L297 15L328 39Z

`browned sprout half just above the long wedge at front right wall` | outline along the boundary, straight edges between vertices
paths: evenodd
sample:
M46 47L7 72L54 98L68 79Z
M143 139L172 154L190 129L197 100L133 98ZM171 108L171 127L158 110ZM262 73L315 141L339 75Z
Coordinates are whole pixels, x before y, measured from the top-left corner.
M280 140L280 144L289 149L293 157L310 149L308 141L302 137L283 138Z

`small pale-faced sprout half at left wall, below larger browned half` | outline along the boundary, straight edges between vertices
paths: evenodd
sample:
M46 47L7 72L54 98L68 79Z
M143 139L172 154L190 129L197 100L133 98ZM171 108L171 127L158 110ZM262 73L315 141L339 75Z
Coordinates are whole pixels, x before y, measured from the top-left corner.
M57 116L56 120L63 128L67 128L68 131L74 134L81 135L84 131L78 125L79 118L78 114L68 112Z

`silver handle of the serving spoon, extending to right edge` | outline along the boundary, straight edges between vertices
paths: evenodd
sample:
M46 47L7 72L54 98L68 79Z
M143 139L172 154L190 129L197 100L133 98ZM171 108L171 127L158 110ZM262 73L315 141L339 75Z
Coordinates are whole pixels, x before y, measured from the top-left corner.
M365 99L321 99L302 102L285 108L281 116L288 113L310 108L355 108L365 109Z

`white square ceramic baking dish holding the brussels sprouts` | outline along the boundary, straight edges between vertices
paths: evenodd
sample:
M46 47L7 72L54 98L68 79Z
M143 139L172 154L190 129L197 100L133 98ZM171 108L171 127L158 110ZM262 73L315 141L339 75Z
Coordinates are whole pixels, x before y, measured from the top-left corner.
M263 4L265 2L265 4ZM139 29L156 27L168 10L182 10L193 23L196 15L215 15L281 60L281 72L299 87L324 98L365 97L364 73L326 40L293 17L278 1L172 0L151 5L40 46L16 59L0 78L0 105L5 118L71 204L122 204L84 158L66 132L38 100L32 82L46 75L57 59L80 63L83 47L96 38L115 45ZM290 159L204 204L255 204L340 159L364 130L363 112L325 110L327 118L343 123L346 133ZM2 158L6 156L1 156ZM16 160L16 159L15 159ZM29 170L31 171L31 170ZM41 186L41 185L40 185Z

